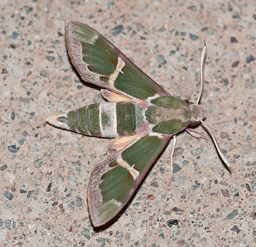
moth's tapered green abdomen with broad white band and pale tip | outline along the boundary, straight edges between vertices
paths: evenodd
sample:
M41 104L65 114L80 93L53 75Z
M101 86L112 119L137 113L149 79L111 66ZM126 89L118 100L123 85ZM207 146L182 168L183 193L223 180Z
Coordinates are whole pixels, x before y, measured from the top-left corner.
M109 138L134 135L147 126L143 108L132 102L91 104L47 121L62 129Z

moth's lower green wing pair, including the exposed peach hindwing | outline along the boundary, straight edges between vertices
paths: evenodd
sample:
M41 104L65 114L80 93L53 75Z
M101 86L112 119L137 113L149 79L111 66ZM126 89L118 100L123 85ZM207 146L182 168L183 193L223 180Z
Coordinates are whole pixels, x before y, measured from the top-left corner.
M88 207L95 227L104 225L125 206L170 136L147 133L118 137L108 149L109 157L92 171Z

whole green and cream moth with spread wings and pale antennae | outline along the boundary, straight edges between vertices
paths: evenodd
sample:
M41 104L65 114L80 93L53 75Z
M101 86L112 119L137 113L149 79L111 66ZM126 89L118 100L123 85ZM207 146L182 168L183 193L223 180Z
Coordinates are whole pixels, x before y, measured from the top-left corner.
M189 127L201 124L208 131L231 171L213 132L203 121L206 114L199 104L204 89L205 43L200 93L192 103L167 93L90 26L67 20L65 39L81 78L103 87L101 93L108 102L51 116L46 121L84 135L115 138L107 148L107 159L92 170L88 184L88 208L94 227L104 225L122 210L170 138L172 168L177 134L187 131L202 137Z

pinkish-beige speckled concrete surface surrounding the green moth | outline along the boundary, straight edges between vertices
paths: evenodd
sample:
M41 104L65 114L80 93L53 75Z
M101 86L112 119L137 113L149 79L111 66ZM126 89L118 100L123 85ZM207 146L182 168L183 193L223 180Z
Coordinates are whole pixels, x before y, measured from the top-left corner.
M1 0L0 246L255 246L255 3L242 1ZM181 133L120 217L94 229L86 186L108 139L56 129L45 118L101 102L65 48L64 23L108 37L167 91L201 104L212 141ZM202 127L198 127L205 133Z

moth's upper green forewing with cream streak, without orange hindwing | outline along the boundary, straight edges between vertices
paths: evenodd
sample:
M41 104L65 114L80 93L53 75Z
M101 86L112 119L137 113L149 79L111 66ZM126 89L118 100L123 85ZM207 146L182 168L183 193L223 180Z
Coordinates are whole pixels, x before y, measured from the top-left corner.
M90 26L67 20L65 37L71 62L84 81L124 95L133 102L141 102L156 94L168 95Z

